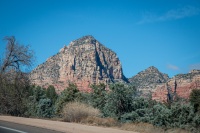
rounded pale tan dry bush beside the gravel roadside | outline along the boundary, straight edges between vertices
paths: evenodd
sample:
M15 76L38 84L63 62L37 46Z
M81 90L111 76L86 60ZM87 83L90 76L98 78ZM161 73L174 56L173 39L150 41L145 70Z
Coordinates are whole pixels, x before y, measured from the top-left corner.
M100 111L83 103L70 102L63 107L62 115L66 122L80 122L89 116L100 116Z

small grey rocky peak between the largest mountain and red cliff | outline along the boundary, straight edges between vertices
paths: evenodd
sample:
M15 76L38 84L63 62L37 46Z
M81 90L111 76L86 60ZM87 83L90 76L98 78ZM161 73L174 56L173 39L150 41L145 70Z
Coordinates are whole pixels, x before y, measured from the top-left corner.
M157 85L166 83L169 79L167 74L161 73L156 67L151 66L129 79L129 82L141 91L142 95L151 95Z

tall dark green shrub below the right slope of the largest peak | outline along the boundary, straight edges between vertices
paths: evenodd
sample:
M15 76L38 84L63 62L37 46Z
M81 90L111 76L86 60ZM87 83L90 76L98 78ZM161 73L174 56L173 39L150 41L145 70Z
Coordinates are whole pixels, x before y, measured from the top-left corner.
M110 85L109 89L103 109L104 115L119 119L124 113L131 112L131 103L136 94L135 87L116 83Z

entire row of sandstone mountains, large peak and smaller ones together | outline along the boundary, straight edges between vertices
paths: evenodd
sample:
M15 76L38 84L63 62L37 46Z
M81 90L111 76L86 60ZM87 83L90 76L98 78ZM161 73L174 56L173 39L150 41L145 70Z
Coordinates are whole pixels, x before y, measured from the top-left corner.
M162 102L167 101L169 94L173 97L175 93L187 99L192 89L200 88L200 70L169 79L167 74L151 66L128 81L116 53L92 36L84 36L64 46L35 68L29 78L33 84L53 85L57 91L65 89L69 82L76 83L81 91L90 91L90 84L130 82L142 96L152 96Z

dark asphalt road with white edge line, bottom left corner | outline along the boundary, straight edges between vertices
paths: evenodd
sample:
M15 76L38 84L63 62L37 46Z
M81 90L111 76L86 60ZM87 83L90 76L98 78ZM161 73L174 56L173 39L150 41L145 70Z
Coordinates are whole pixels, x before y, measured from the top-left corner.
M61 133L45 128L0 121L0 133Z

